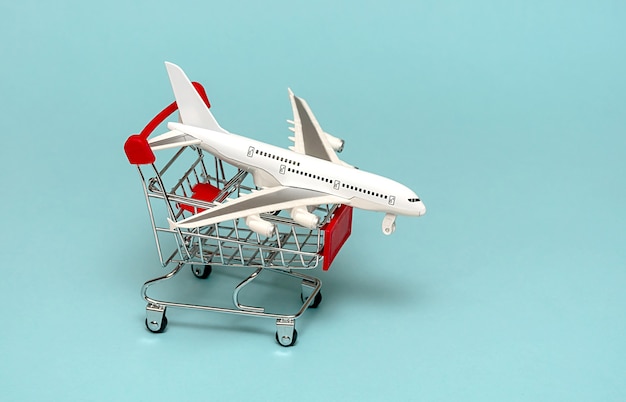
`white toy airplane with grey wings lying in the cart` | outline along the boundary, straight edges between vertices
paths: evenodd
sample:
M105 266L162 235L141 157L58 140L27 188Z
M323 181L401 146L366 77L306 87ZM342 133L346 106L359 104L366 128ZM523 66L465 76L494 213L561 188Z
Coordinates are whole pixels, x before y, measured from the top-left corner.
M224 130L183 70L165 63L180 113L180 123L149 141L152 149L196 145L217 158L252 174L259 190L227 200L170 226L196 228L225 220L244 218L254 232L272 236L274 225L259 214L288 210L298 224L315 228L317 215L310 211L321 204L345 204L384 212L383 233L395 231L397 215L421 216L426 207L406 186L365 172L341 161L343 141L325 133L308 104L289 90L293 108L290 137L294 145L279 148Z

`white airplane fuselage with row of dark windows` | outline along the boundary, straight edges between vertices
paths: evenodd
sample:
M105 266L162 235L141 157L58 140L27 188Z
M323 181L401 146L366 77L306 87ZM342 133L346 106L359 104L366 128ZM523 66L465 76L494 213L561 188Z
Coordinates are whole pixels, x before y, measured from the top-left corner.
M257 187L296 187L345 199L343 204L393 215L420 216L426 207L408 187L385 177L339 165L232 133L169 123L200 140L200 147L253 175Z

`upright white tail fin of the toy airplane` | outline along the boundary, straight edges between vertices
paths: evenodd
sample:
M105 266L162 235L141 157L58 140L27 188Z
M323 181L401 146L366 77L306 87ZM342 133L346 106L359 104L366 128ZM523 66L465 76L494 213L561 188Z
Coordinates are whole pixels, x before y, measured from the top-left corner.
M215 120L209 107L198 94L185 72L176 64L165 62L174 97L183 124L227 133Z

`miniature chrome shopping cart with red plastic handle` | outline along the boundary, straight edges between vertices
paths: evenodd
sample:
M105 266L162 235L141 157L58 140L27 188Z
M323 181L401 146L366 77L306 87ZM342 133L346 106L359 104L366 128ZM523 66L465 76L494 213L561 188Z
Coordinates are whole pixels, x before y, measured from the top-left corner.
M198 85L195 84L194 85ZM199 90L201 95L203 93ZM208 102L208 101L207 101ZM146 327L163 332L167 326L166 309L186 308L276 320L276 340L282 346L296 342L295 321L307 308L317 307L322 299L321 281L299 271L330 267L335 255L350 236L352 209L345 205L320 205L313 211L319 216L315 229L294 222L288 213L261 214L274 224L274 234L265 237L250 230L245 219L184 229L171 225L212 208L216 203L234 199L255 189L247 172L238 170L196 146L159 150L158 161L148 137L169 115L176 111L172 103L141 132L126 141L124 149L136 165L146 198L156 249L163 267L172 267L166 275L147 281L142 295L147 301ZM168 220L169 219L169 220ZM232 306L204 305L160 300L148 295L156 283L168 281L190 266L193 274L207 279L212 267L221 266L245 273L232 291ZM252 268L246 270L244 268ZM240 301L241 290L262 273L283 274L300 283L301 301L289 314L267 311L263 305ZM230 301L228 301L230 302Z

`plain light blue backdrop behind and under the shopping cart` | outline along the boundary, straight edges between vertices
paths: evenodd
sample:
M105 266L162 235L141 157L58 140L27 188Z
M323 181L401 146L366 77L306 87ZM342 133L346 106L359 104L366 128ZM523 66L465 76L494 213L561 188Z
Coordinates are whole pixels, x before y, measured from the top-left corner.
M0 399L626 399L626 3L2 2ZM289 145L286 88L426 216L356 211L324 301L171 310L122 151L172 94ZM184 275L175 288L210 283Z

